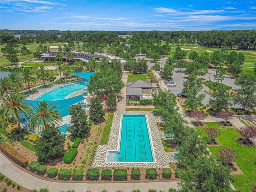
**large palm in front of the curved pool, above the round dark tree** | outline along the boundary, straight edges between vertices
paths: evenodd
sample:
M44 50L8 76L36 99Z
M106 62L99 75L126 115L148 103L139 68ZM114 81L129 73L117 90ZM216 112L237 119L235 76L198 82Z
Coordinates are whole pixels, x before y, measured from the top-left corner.
M57 124L62 122L60 111L55 110L58 108L57 105L47 100L39 100L36 104L36 106L31 105L33 113L29 120L30 127L36 128L41 125L41 130L44 130L48 122L53 120L55 120Z

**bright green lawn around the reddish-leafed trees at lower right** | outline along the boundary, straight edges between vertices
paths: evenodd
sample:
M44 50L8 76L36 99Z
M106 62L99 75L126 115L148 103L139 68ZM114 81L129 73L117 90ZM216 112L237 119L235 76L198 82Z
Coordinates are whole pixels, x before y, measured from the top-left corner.
M244 174L234 175L237 180L232 184L236 190L241 190L242 192L250 191L252 182L256 181L256 147L241 146L238 144L235 138L241 136L234 128L221 127L217 122L206 122L206 125L208 127L217 128L220 131L221 135L217 137L217 140L222 146L230 146L237 150L238 158L236 164ZM201 128L196 129L202 130ZM208 148L210 152L216 156L219 146L208 146Z

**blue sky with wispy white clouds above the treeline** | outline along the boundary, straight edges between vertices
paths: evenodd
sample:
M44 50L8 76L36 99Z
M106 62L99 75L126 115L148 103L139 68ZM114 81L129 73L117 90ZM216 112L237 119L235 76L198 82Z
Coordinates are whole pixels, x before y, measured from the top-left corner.
M1 29L256 29L256 0L0 0Z

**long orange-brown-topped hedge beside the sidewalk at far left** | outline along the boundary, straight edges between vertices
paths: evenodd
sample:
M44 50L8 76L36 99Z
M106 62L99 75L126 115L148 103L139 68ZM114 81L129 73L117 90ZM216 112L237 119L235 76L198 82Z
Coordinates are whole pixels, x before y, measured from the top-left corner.
M22 167L26 167L28 165L28 159L19 154L17 150L9 146L7 143L1 144L0 149L6 156L16 162L18 165Z

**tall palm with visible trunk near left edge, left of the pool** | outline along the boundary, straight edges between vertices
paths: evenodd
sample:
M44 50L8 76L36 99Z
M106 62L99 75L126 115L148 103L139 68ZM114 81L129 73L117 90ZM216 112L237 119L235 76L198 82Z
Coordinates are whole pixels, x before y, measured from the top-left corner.
M18 124L18 130L22 134L22 129L20 126L20 113L23 112L25 115L31 112L29 105L24 102L25 98L23 94L13 93L7 94L2 102L3 116L6 118L7 123L14 118Z

